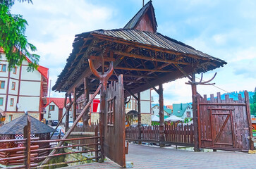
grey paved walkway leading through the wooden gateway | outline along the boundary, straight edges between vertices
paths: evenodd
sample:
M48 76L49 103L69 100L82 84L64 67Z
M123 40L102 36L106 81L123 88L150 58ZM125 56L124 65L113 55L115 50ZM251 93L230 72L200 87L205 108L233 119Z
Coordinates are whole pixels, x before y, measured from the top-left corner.
M241 152L193 152L137 144L129 145L126 161L133 168L256 168L256 154ZM70 168L119 168L112 161L72 166Z

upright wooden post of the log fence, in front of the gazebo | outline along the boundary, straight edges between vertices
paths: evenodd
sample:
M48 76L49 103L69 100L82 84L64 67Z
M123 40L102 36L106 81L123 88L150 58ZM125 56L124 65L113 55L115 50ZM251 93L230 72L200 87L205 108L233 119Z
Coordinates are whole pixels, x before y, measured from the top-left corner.
M24 159L24 165L25 165L25 168L30 168L30 134L31 134L31 119L30 119L30 116L28 116L28 124L25 125L24 129L23 129L23 135L24 135L24 138L26 139L25 143L24 143L24 146L25 146L25 151L24 151L24 156L25 156L25 159Z

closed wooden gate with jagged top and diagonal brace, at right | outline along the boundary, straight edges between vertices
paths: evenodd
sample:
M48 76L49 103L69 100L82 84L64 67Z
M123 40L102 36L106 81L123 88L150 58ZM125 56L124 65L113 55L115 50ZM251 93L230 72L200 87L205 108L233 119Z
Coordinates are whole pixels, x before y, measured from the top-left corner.
M253 144L252 123L248 92L245 99L238 94L238 101L233 101L228 95L221 100L211 94L210 100L197 96L199 144L202 148L223 149L229 151L248 151Z

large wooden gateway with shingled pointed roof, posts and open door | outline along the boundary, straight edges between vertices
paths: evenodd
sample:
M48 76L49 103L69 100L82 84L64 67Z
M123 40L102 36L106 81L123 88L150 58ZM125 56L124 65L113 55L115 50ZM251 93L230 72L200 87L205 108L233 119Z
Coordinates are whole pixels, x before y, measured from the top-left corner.
M133 96L138 102L138 129L140 133L140 92L154 89L159 94L159 139L164 140L164 96L163 85L178 78L188 77L193 93L193 115L197 117L195 99L196 73L222 67L225 61L197 51L175 39L157 32L157 20L152 1L121 29L94 30L75 35L73 51L66 66L59 75L54 91L66 92L66 98L73 94L74 120L76 99L85 94L101 95L99 114L101 158L111 158L125 166L125 98ZM157 89L156 86L159 86ZM93 97L92 97L93 99ZM87 102L90 104L90 101ZM79 114L89 120L89 106ZM78 119L79 120L79 119ZM78 123L75 120L75 123ZM194 125L197 126L196 120ZM71 130L73 128L71 127ZM69 131L68 133L70 133ZM195 149L198 148L197 127L195 127ZM114 149L118 151L114 151ZM54 152L52 152L54 154Z

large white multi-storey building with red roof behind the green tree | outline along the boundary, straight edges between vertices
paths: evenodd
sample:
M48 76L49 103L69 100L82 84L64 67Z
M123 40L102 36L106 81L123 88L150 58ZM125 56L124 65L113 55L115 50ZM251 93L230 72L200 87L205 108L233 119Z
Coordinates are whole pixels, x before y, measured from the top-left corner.
M30 60L20 67L8 71L8 61L0 49L0 108L6 113L4 123L24 115L42 120L44 105L47 104L49 69L39 65L37 70L28 72Z

